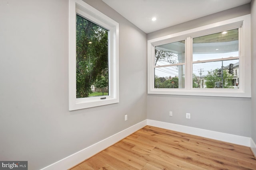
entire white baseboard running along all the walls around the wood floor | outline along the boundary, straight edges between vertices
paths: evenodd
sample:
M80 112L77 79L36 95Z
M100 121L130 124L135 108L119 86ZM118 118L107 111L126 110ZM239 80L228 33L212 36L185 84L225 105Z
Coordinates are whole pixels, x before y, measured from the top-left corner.
M129 127L127 129L124 129L123 131L120 131L98 143L95 143L94 145L91 145L85 149L82 149L66 158L63 158L62 160L59 160L58 162L55 162L49 166L46 166L45 168L41 170L62 170L62 169L68 169L72 168L73 166L79 164L83 160L90 158L91 156L95 155L96 153L110 147L111 145L117 143L118 141L124 139L125 137L129 136L130 134L138 131L142 127L145 127L146 125L160 127L163 129L169 129L172 131L178 131L182 133L188 133L191 135L206 137L210 139L216 139L219 141L234 143L238 145L244 145L247 147L251 147L252 152L254 152L254 155L256 155L256 145L254 141L250 137L243 137L238 135L232 135L228 133L221 133L216 131L209 131L205 129L199 129L195 127L188 127L183 125L177 125L173 123L166 123L162 121L155 121L146 119L144 121L141 121L140 123L137 123L136 125L133 125L132 127Z

